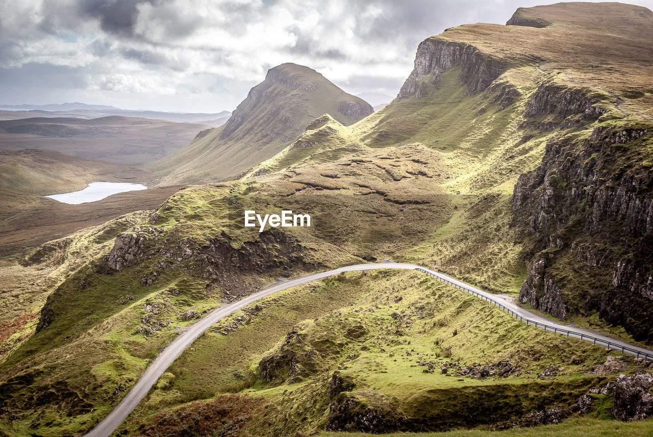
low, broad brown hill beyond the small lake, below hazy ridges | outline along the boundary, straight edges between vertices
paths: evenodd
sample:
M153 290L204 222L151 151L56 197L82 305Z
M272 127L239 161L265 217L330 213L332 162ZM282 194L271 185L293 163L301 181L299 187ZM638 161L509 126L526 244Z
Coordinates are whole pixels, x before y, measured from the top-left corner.
M210 125L110 115L0 121L0 150L48 149L121 164L142 164L181 149Z

